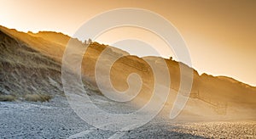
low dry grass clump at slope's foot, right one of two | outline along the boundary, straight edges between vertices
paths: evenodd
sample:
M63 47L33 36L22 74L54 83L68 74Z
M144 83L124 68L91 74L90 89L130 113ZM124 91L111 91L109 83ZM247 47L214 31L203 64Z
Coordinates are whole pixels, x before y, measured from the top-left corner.
M51 98L49 95L43 95L43 94L26 94L25 95L26 101L31 102L49 102L49 99Z

